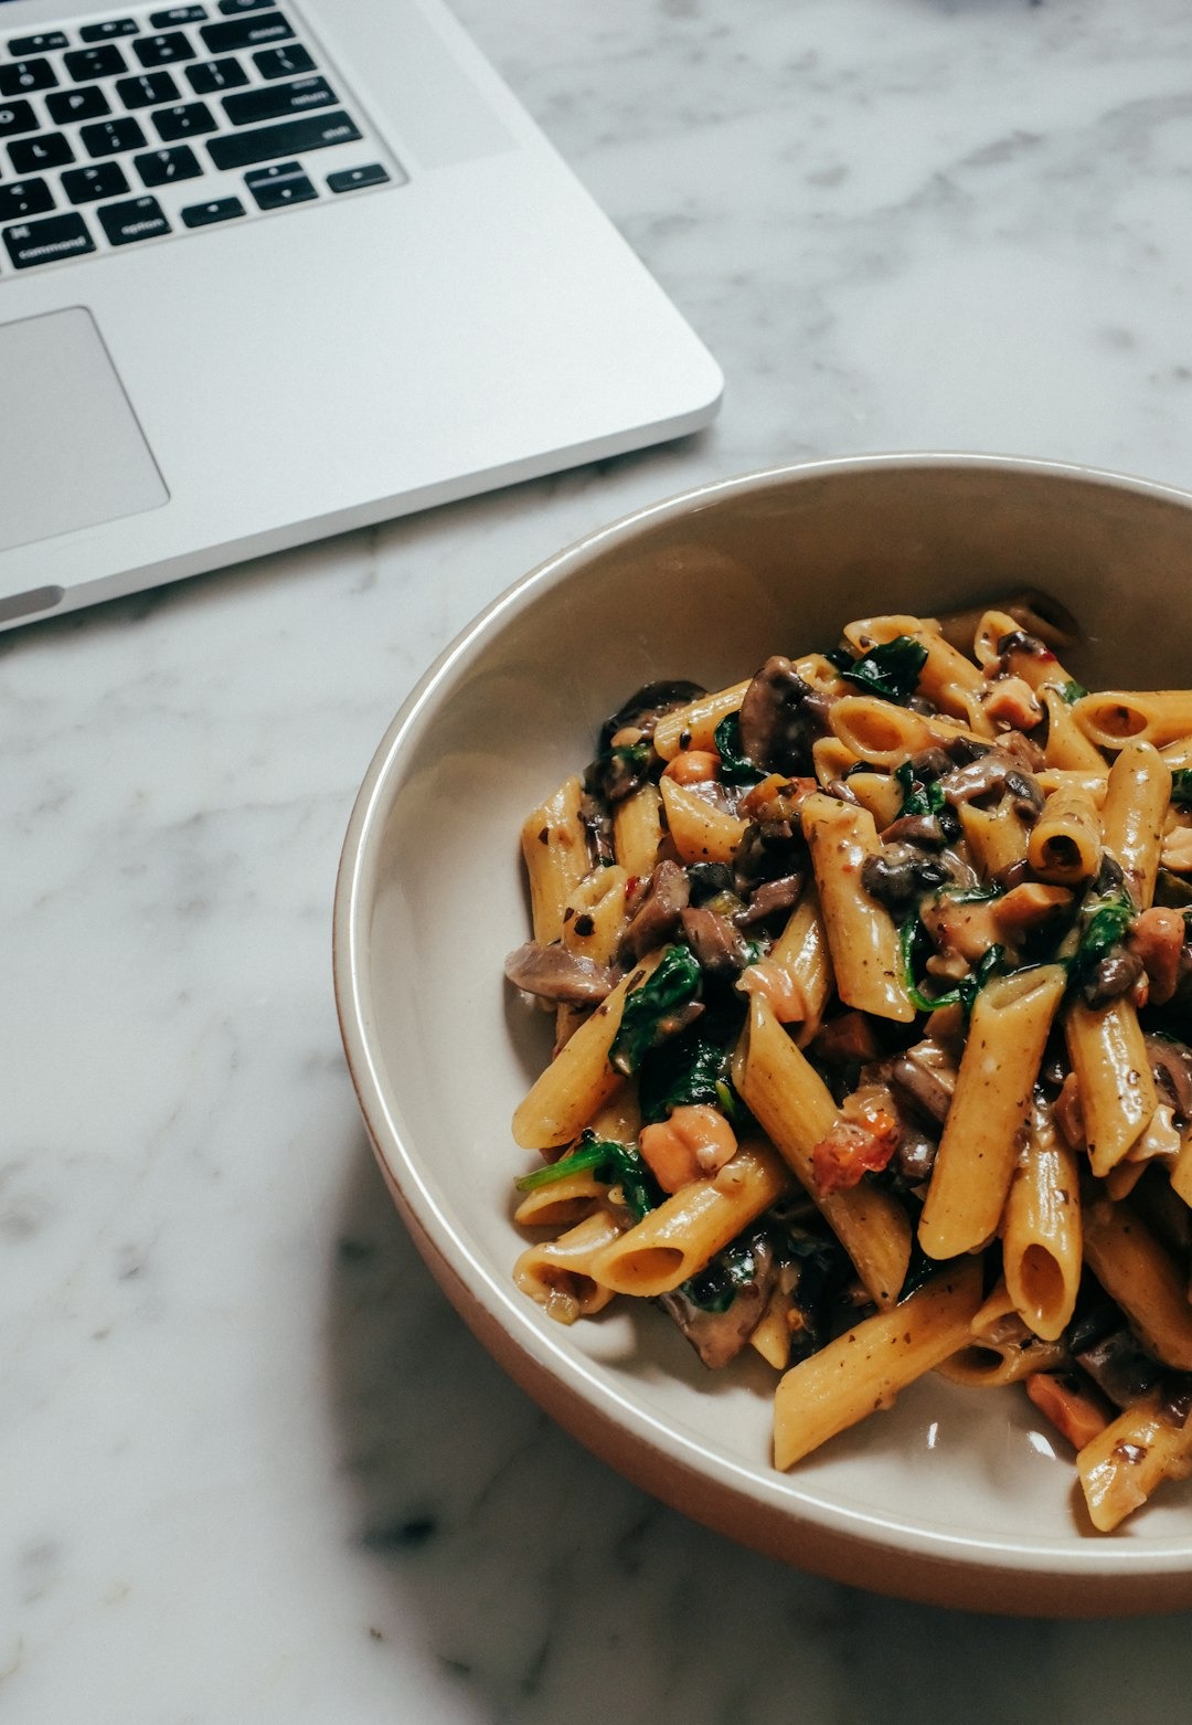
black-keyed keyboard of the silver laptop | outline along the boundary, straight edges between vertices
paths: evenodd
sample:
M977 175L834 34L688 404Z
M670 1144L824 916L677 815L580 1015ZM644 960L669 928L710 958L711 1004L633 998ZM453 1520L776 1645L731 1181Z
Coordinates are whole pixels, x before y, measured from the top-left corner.
M0 33L0 271L404 179L274 0Z

